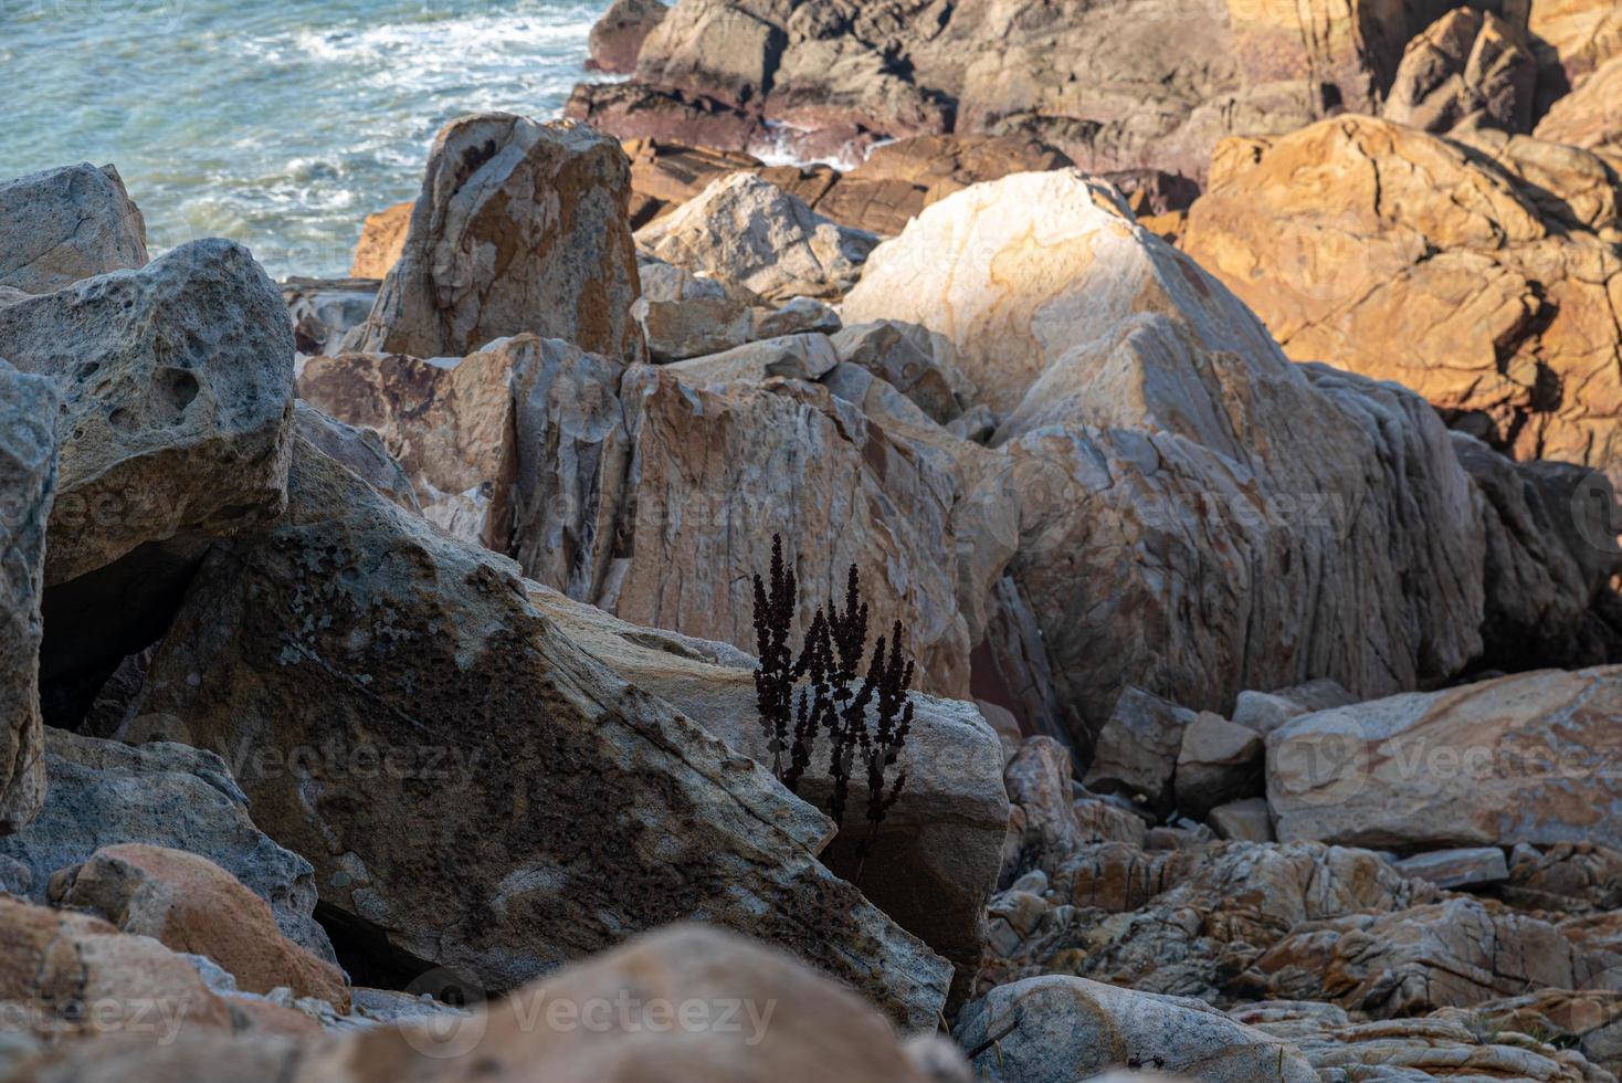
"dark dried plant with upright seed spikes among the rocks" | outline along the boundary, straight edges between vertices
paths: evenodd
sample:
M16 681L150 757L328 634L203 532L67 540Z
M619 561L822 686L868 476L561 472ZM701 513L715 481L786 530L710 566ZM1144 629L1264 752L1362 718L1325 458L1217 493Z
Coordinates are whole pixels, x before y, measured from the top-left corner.
M796 608L795 574L783 566L779 535L772 538L770 584L754 577L754 636L761 655L754 691L761 728L772 751L772 773L795 793L813 762L817 734L827 733L827 773L834 783L827 811L837 827L845 824L850 781L858 765L866 775L868 832L856 848L860 884L879 825L907 785L905 768L897 770L892 781L886 780L912 731L913 704L907 689L913 663L902 653L902 623L895 621L889 639L881 636L874 644L866 676L856 683L869 613L855 564L845 577L845 608L830 598L826 610L816 611L798 657L788 649ZM796 699L795 687L801 681L806 684ZM869 726L868 707L874 704L878 718Z

